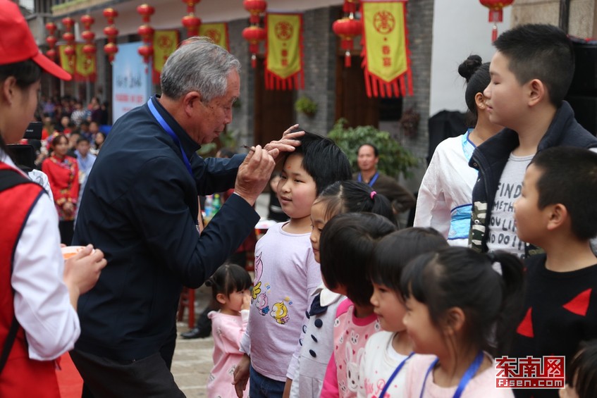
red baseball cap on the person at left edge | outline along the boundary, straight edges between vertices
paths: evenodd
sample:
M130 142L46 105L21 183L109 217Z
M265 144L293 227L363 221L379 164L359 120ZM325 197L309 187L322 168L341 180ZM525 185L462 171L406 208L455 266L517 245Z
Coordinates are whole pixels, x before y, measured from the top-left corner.
M30 59L47 73L62 80L70 80L70 73L56 65L39 51L25 17L18 6L9 0L0 0L0 65Z

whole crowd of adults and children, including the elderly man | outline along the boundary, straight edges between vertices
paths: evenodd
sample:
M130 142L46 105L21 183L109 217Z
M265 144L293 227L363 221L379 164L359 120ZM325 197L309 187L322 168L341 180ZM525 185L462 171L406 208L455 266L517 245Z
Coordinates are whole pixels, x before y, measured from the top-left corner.
M0 8L16 35L0 41L1 396L59 397L54 360L70 352L82 397L183 397L170 371L178 299L204 282L209 397L597 393L597 138L563 100L574 54L557 27L512 28L491 63L462 63L476 122L438 147L415 225L400 228L414 196L378 173L371 144L354 175L331 139L297 125L246 155L199 157L240 93L238 60L199 37L168 57L162 94L107 137L77 131L93 109L44 104L61 129L40 163L52 206L7 144L35 113L42 70L70 76L15 4ZM288 220L255 244L251 278L228 261L269 184ZM226 201L202 225L198 197L215 192ZM83 249L63 260L60 237ZM496 388L496 359L544 356L568 365L559 393Z

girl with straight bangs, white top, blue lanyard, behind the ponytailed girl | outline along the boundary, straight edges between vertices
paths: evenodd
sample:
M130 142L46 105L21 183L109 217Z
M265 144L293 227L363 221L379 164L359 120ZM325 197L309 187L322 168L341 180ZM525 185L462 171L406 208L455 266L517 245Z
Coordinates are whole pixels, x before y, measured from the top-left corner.
M400 275L407 263L419 256L448 247L433 228L407 228L392 232L377 244L370 276L371 304L383 329L369 338L361 361L359 397L405 397L407 356L412 343L402 318L406 313Z

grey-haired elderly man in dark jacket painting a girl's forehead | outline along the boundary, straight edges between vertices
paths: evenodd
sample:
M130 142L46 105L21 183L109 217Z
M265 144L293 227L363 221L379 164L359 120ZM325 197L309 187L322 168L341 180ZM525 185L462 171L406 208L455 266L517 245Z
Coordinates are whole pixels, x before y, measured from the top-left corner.
M169 370L183 285L199 287L253 231L252 208L285 136L230 159L195 151L232 120L240 63L204 39L166 62L161 97L113 126L85 187L73 244L93 242L109 266L79 301L81 337L71 356L83 396L184 397ZM199 235L197 194L234 187Z

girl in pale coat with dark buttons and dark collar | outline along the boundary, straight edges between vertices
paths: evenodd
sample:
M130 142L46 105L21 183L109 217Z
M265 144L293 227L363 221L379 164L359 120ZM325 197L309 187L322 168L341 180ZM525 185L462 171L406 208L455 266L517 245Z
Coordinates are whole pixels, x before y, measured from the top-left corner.
M352 180L334 182L324 189L311 207L311 245L315 261L319 263L319 236L328 220L339 213L367 211L388 218L395 223L390 201L375 194L369 185ZM338 304L345 297L320 285L309 301L307 325L297 350L290 361L286 391L290 397L319 397L321 384L333 347L333 323ZM290 387L291 385L291 387Z

